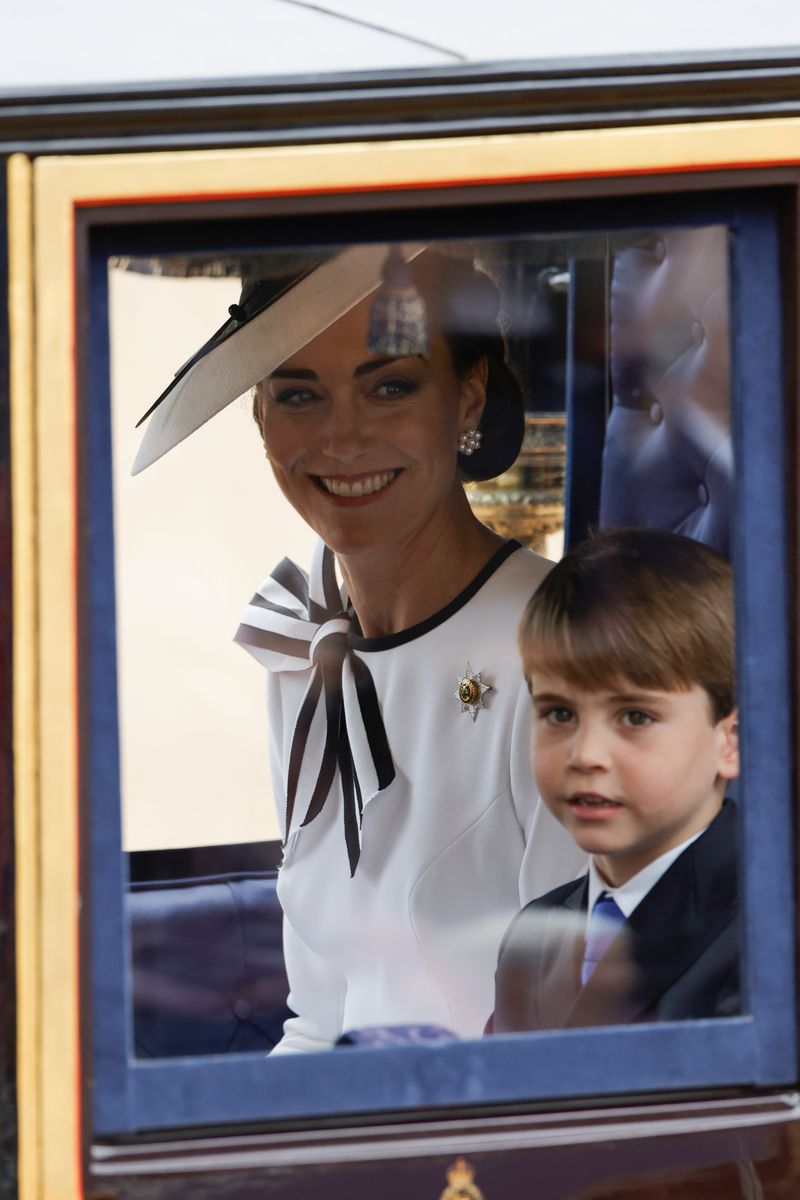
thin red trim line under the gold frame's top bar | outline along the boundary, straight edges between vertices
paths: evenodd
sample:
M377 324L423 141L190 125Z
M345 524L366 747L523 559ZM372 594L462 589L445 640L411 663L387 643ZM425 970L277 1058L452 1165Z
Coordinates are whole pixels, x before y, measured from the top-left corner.
M495 175L489 178L465 176L446 180L410 180L402 184L354 184L336 187L285 187L240 192L174 192L149 196L106 196L77 199L76 209L98 209L126 204L191 204L201 200L266 199L271 196L343 196L362 192L410 192L417 190L441 190L449 187L491 187L504 184L559 182L570 179L621 179L626 175L678 175L715 170L758 170L775 167L796 167L800 156L788 158L759 158L715 163L673 163L668 167L626 167L615 170L567 170L537 172L531 175Z

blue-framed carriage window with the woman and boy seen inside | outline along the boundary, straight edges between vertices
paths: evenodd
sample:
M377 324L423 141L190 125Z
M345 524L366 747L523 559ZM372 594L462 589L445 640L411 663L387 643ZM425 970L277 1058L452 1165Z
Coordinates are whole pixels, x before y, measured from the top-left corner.
M115 606L90 770L122 848L95 874L96 911L104 886L121 900L92 935L101 1134L462 1103L465 1055L475 1103L747 1075L763 1000L739 847L762 853L758 706L787 686L786 660L742 653L783 521L763 469L780 353L753 334L776 265L763 216L650 208L503 239L97 241L110 384L96 355L90 407L110 403L112 469L88 487L113 504L95 571ZM612 554L599 601L587 575L606 658L548 656L534 614L521 664L545 560L619 528L630 578ZM584 728L607 742L576 766ZM687 985L656 985L681 870L714 914L681 943ZM521 925L559 888L543 932ZM633 932L578 983L606 892Z

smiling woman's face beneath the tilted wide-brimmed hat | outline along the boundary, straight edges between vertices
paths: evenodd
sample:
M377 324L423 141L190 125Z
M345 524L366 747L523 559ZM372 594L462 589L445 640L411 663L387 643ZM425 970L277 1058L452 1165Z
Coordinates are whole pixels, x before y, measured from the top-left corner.
M463 503L457 440L477 425L486 364L458 379L431 353L366 349L369 299L261 380L264 444L289 503L339 554L407 544Z

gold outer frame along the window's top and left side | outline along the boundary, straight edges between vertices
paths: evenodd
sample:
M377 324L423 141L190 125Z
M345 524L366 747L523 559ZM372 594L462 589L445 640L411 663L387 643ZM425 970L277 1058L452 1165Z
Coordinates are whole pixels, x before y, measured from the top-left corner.
M800 119L8 163L20 1200L82 1195L74 218L83 206L795 166ZM445 197L443 197L445 199Z

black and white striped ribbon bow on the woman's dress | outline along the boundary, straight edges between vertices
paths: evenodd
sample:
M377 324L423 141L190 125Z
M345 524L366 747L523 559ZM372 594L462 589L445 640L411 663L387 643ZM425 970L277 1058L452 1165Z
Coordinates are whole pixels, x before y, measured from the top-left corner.
M333 552L319 542L309 576L288 558L278 563L247 605L235 641L270 671L312 667L289 751L285 836L291 832L303 761L312 756L317 781L301 826L321 812L338 767L353 876L361 854L363 797L391 784L395 763L372 674L348 643L349 628L347 595L336 586ZM324 739L312 736L320 697Z

